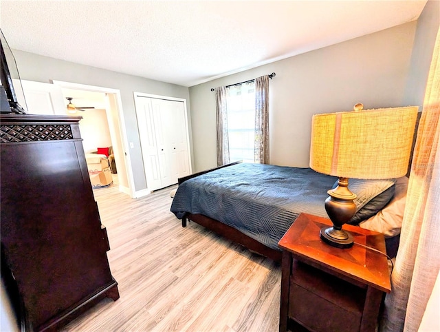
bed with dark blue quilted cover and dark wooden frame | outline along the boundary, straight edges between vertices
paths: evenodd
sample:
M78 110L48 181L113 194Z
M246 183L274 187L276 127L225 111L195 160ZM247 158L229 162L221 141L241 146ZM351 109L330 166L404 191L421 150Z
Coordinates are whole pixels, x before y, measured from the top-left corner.
M278 241L300 213L328 218L324 201L336 181L310 168L237 162L179 179L170 210L183 227L192 220L280 261ZM393 200L396 180L351 179L349 186L358 195L349 223L359 225Z

